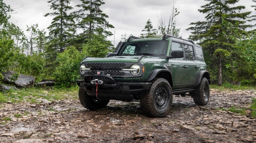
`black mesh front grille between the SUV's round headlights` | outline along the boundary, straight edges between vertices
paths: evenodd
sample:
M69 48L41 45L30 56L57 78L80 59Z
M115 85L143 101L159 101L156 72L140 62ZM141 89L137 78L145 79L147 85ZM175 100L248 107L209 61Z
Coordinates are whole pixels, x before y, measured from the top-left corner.
M88 75L95 74L96 71L105 71L111 76L124 76L126 73L122 72L121 67L125 67L125 63L87 63L87 66L91 69L88 71Z

